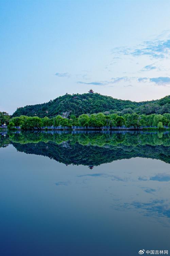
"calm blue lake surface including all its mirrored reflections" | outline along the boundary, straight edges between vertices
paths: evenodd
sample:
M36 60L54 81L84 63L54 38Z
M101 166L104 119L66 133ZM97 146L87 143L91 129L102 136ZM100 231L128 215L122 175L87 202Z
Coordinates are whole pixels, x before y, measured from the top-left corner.
M169 133L0 136L0 255L170 254Z

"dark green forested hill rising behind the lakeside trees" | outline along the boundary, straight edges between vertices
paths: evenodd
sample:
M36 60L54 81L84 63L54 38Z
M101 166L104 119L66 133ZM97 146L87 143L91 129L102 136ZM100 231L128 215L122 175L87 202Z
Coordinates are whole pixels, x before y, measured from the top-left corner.
M170 113L170 95L162 99L147 102L132 102L130 100L115 99L98 93L66 94L47 103L29 105L18 108L16 116L53 117L66 111L79 116L83 113L98 113L119 111L122 114L137 112L139 114Z

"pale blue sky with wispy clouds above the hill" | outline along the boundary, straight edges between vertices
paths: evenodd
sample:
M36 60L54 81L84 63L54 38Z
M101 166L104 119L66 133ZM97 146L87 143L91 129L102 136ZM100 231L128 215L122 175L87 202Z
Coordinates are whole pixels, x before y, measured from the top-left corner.
M0 111L170 94L170 1L0 1Z

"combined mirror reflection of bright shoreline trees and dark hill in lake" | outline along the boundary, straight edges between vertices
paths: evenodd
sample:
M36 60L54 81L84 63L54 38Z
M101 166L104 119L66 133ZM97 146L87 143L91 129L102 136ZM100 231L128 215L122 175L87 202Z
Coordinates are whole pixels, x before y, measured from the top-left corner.
M170 134L49 134L11 133L5 144L21 152L47 156L65 164L100 165L144 157L170 163ZM2 142L1 142L2 144Z

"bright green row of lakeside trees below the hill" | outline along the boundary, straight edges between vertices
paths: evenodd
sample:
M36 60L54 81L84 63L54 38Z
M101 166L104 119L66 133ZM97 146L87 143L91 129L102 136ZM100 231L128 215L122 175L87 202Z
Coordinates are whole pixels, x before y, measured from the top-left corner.
M107 126L112 127L126 126L133 127L134 129L140 129L140 126L156 126L158 129L164 129L164 126L170 127L170 113L161 114L82 114L79 117L71 114L69 118L63 118L58 115L54 118L39 118L39 117L28 117L20 116L13 117L9 124L8 129L20 126L23 130L41 129L42 127L49 126L62 126L71 129L72 126L83 126L101 128Z

